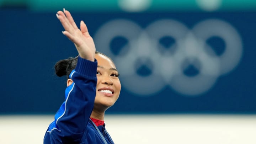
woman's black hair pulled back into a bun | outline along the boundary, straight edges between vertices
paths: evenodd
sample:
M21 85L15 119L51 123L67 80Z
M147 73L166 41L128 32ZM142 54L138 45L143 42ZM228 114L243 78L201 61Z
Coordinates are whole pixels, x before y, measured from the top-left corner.
M110 57L108 57L107 55L105 55L103 53L100 53L100 52L96 51L95 54L102 54L102 55L106 56L107 58L109 58L112 61L112 59ZM72 70L75 69L77 62L78 62L78 56L69 57L68 59L59 60L55 64L55 73L56 73L56 75L60 76L60 77L66 75L66 79L69 79L69 75L72 72Z

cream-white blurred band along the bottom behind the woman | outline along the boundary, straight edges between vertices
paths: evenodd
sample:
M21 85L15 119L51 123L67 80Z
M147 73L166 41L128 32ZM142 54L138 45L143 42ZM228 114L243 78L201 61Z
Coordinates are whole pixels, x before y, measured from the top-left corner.
M53 115L0 115L0 144L43 144ZM256 144L256 115L106 115L116 144Z

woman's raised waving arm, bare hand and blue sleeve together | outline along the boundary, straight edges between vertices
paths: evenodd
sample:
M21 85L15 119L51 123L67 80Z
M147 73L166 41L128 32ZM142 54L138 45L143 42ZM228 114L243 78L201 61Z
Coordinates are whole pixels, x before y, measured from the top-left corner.
M86 126L94 107L97 83L96 49L83 21L79 30L70 12L58 11L57 17L65 29L63 34L75 44L79 57L75 70L69 75L73 83L66 88L66 100L48 127L44 144L76 144L80 143L87 132Z

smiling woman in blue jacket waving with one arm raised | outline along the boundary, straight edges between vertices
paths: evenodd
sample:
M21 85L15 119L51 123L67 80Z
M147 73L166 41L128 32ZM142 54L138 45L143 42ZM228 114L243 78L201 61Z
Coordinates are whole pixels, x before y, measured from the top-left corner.
M96 52L83 21L80 30L69 11L58 11L63 34L79 53L55 65L58 76L67 75L66 100L55 114L44 136L44 144L113 144L104 124L105 111L121 90L116 66L106 55Z

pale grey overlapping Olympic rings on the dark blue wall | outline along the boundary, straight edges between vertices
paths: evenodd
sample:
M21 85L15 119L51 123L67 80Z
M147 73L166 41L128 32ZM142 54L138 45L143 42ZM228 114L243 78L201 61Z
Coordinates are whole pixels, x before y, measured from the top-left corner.
M221 55L206 43L213 36L225 42ZM127 39L119 54L114 54L110 46L115 37ZM162 49L159 41L163 37L175 39L171 46L175 50ZM98 51L114 60L121 74L122 86L140 96L156 94L166 86L187 96L203 94L219 76L233 70L242 56L239 33L229 23L218 19L201 21L192 29L171 19L154 21L145 29L130 20L117 19L100 27L94 41ZM148 75L137 72L144 64L151 71ZM198 74L186 75L184 70L188 65L196 67Z

